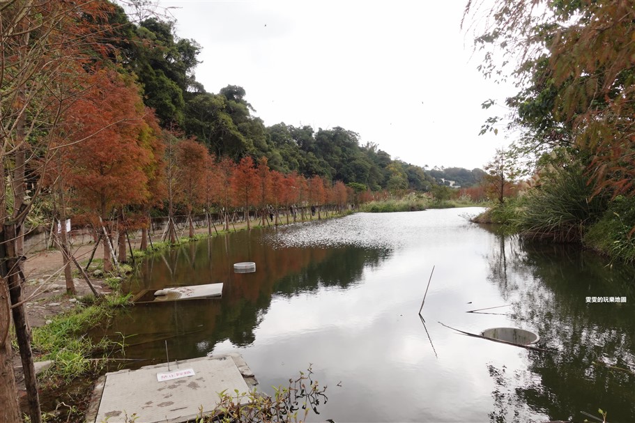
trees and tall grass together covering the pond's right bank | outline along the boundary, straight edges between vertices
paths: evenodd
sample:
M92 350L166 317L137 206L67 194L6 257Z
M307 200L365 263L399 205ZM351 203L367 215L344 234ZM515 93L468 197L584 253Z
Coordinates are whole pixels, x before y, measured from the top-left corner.
M480 6L468 2L465 16L478 28L480 69L514 79L519 91L505 100L509 115L482 127L517 141L487 165L498 204L477 221L632 263L635 10L614 0L557 1L536 13L533 1L500 0L482 26Z

